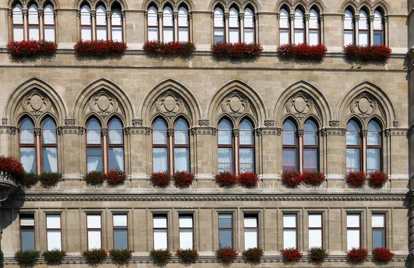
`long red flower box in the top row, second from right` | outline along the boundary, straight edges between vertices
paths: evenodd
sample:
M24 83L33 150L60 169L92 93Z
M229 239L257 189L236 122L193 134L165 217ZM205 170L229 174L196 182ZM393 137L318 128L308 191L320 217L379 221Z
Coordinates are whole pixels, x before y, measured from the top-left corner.
M277 47L277 55L284 59L321 60L328 49L324 44L310 46L303 44L284 44Z

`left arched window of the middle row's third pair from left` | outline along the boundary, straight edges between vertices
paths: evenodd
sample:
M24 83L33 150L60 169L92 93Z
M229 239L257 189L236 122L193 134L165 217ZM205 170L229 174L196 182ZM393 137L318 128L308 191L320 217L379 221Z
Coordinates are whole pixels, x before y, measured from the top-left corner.
M152 125L152 171L168 171L167 124L161 118Z

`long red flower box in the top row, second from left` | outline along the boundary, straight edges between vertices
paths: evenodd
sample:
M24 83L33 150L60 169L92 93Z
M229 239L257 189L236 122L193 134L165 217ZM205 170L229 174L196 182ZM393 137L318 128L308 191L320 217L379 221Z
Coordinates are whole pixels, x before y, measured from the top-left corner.
M121 55L128 48L125 42L112 40L78 41L73 47L76 55Z

